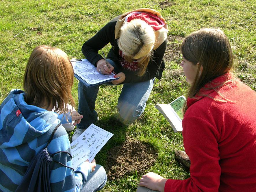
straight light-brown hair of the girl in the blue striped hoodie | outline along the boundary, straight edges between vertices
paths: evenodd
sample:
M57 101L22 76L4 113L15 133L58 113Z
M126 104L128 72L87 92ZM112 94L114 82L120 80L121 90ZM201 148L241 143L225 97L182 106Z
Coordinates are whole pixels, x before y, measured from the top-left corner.
M73 81L74 71L66 53L57 47L38 46L29 57L23 77L25 100L38 107L52 104L55 111L67 113L67 104L74 106Z

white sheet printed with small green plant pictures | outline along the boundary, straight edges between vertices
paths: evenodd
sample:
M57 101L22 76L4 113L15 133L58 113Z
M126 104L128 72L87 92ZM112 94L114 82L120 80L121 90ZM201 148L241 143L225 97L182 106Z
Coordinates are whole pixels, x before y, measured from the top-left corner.
M73 168L78 166L85 160L92 162L96 154L113 136L112 133L91 124L71 145L71 154Z

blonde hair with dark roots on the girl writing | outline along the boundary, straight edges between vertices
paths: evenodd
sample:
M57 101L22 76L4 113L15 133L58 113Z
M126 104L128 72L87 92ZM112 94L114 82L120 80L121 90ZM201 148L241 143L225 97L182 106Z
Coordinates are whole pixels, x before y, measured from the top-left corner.
M155 44L155 32L145 21L133 19L120 28L118 47L124 53L125 60L138 60L138 75L144 75L152 56Z

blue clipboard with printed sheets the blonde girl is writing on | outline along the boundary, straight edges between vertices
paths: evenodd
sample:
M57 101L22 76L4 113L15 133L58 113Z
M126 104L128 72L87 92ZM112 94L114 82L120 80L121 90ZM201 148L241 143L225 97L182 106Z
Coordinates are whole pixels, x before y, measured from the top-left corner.
M70 61L74 69L75 78L77 78L87 87L103 84L120 78L114 78L114 73L111 73L111 75L103 75L99 73L96 67L87 59L75 59Z

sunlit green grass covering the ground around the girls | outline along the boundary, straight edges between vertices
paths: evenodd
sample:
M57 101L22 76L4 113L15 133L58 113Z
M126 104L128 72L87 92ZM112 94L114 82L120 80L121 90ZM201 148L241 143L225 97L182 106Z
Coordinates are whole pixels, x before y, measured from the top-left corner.
M163 3L164 2L164 3ZM166 19L168 36L179 37L168 45L177 45L181 39L202 27L222 29L230 40L235 55L234 73L253 90L255 73L255 1L247 0L95 0L95 1L0 1L0 103L12 88L22 88L23 73L31 51L38 45L56 46L69 58L83 58L81 46L109 20L136 8L153 8ZM37 29L31 30L31 27ZM24 29L24 32L22 32ZM20 34L18 34L21 32ZM41 32L42 35L37 35ZM18 34L18 35L17 35ZM15 38L14 36L17 35ZM170 46L169 49L172 47ZM110 46L103 50L107 52ZM168 54L172 53L169 51ZM166 56L167 57L167 56ZM156 164L148 171L166 178L185 179L189 172L174 160L174 151L183 149L181 133L174 133L168 121L155 109L157 103L169 103L185 95L188 84L179 66L180 58L166 60L161 81L156 81L140 121L125 126L114 120L116 104L122 86L101 86L96 110L97 123L114 136L96 156L97 163L105 165L108 149L125 141L127 136L146 141L158 151ZM77 80L73 96L77 99ZM134 172L120 181L108 182L103 191L135 191L140 177Z

